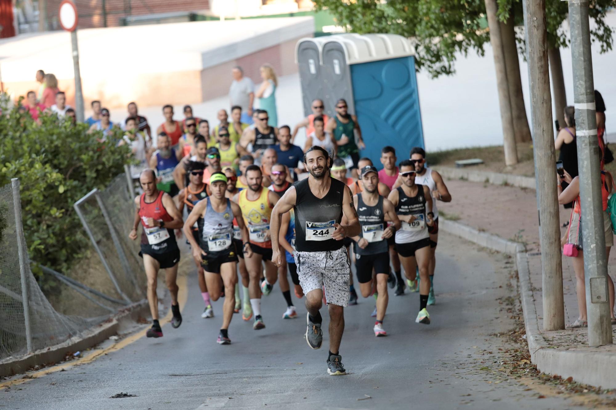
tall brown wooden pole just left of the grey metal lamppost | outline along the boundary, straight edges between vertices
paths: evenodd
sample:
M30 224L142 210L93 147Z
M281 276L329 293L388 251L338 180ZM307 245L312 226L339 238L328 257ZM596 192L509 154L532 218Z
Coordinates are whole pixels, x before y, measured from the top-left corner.
M526 48L529 61L533 156L541 238L543 330L565 328L562 295L561 231L556 191L556 152L549 90L548 31L545 0L525 1Z

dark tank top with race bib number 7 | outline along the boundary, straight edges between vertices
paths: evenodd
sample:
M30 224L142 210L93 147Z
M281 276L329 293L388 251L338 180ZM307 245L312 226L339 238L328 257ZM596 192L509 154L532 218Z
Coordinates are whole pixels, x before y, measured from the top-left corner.
M387 241L381 239L386 228L383 196L379 195L379 201L375 206L368 206L363 202L362 194L357 194L357 215L359 216L359 224L362 225L360 237L368 241L368 246L362 249L355 243L355 253L374 255L387 252L389 250Z

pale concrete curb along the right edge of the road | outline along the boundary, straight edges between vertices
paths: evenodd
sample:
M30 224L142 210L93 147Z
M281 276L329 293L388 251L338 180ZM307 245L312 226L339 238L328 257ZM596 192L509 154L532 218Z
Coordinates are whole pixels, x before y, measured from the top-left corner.
M616 388L614 349L610 352L605 347L592 348L586 345L575 348L556 347L548 344L544 339L544 336L557 331L541 332L539 328L535 295L530 282L528 255L524 245L446 219L439 220L439 230L516 257L526 340L529 345L530 360L537 366L537 369L547 374L557 374L563 379L573 377L577 382L604 388Z

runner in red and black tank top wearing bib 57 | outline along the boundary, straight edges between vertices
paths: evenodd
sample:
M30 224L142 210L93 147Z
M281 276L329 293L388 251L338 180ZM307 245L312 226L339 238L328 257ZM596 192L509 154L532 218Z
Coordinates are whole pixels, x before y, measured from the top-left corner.
M177 265L180 262L180 250L177 247L174 229L184 225L182 214L177 211L173 198L168 193L156 188L156 175L152 169L146 169L139 177L144 193L135 198L137 212L132 224L129 238L137 239L139 223L143 226L141 235L141 251L139 255L144 259L145 275L148 278L148 303L152 313L152 328L148 329L147 337L163 337L163 331L158 322L158 295L156 295L156 281L158 271L165 270L165 279L171 293L171 320L172 328L179 328L182 324L180 306L177 303L176 283Z

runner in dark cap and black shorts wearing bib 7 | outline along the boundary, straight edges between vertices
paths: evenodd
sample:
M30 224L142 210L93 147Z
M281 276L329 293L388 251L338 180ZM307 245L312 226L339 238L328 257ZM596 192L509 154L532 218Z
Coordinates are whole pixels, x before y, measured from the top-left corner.
M400 229L400 220L394 206L377 191L379 176L376 168L367 165L361 168L360 177L363 190L355 194L354 203L362 225L360 235L354 236L355 270L363 297L370 297L372 291L372 272L376 274L376 322L375 336L387 336L383 329L383 319L387 310L387 278L389 277L389 252L387 240ZM386 227L385 222L392 222Z

